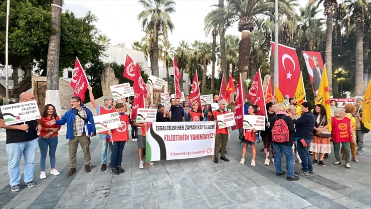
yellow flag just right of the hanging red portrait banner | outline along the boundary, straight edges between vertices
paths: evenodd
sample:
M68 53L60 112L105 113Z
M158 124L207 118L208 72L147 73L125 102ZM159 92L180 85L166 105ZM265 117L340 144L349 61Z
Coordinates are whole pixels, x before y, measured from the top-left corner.
M328 130L331 131L331 105L330 105L330 88L328 87L326 66L323 68L321 82L319 83L317 98L315 104L321 104L325 107Z

